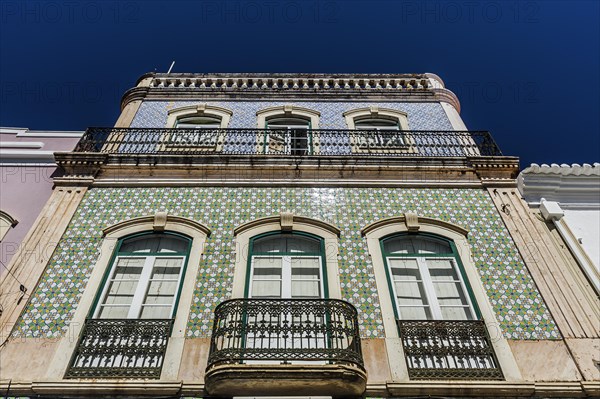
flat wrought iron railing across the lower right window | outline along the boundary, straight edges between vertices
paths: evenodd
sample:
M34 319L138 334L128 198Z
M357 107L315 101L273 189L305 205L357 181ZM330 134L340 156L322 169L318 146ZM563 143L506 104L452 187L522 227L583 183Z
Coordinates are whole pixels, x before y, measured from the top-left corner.
M398 320L411 379L502 380L483 320Z

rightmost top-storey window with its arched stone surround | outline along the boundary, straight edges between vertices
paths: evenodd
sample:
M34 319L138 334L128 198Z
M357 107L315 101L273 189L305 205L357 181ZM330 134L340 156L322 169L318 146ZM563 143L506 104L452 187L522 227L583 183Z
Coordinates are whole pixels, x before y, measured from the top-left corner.
M352 152L410 152L407 114L372 106L344 112L351 133Z

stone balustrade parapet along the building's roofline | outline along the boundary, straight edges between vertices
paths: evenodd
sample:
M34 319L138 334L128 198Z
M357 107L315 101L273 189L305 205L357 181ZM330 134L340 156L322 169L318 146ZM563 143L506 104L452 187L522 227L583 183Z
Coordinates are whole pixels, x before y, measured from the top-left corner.
M454 93L434 74L281 74L281 73L149 73L125 93L122 108L130 101L154 95L247 94L267 96L285 93L299 96L315 93L331 96L418 96L452 104L460 112ZM427 97L423 97L427 96Z

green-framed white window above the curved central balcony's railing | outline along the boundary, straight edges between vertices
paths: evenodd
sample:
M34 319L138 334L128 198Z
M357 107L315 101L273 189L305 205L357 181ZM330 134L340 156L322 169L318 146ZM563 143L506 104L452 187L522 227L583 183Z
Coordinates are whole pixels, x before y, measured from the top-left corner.
M321 237L272 232L250 239L247 298L327 298Z

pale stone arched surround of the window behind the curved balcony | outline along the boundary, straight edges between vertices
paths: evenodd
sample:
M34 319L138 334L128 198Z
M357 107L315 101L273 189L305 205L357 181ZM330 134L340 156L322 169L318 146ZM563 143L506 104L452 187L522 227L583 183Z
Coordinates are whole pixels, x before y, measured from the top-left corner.
M248 273L248 256L250 239L270 232L300 231L321 237L325 244L324 261L327 271L327 289L329 298L342 299L340 275L338 267L338 238L340 230L323 221L282 213L245 223L234 230L235 265L233 271L232 298L244 298L246 276Z

